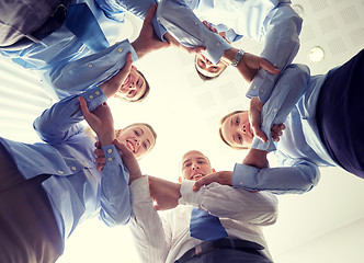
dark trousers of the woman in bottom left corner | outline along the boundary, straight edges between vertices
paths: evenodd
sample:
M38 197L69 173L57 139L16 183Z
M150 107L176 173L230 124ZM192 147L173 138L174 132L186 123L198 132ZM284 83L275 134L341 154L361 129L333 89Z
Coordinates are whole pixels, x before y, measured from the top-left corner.
M53 263L64 242L42 182L25 180L0 144L0 262Z

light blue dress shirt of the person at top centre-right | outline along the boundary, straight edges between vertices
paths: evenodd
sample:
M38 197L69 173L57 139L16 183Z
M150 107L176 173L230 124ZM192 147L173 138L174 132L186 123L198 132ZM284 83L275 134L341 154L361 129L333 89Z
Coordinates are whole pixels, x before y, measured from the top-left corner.
M205 46L207 58L217 64L230 45L207 30L198 18L226 31L229 41L246 36L264 42L261 56L278 69L291 64L299 49L302 19L289 0L162 0L157 20L181 44ZM247 95L266 102L277 78L259 70Z

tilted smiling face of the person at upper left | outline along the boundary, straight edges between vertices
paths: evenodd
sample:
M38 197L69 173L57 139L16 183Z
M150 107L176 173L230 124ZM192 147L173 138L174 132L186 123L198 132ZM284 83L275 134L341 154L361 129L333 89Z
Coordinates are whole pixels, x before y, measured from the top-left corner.
M117 95L127 101L138 101L147 91L146 79L132 66L129 75L118 89Z

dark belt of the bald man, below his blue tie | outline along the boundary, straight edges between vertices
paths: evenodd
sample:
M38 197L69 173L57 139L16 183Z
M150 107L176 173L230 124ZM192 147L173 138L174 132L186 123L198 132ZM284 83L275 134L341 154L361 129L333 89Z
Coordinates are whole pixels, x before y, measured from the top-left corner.
M219 249L240 250L248 253L261 255L261 253L259 253L258 250L263 250L264 247L248 240L224 238L197 244L196 247L187 250L179 260L174 261L174 263L185 263L194 256L198 256L201 254Z

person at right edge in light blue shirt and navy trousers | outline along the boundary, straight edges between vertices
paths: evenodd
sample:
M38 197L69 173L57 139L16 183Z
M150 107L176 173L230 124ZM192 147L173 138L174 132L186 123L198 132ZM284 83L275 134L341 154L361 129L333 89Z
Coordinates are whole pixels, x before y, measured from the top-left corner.
M251 110L258 113L252 125L259 136L252 138L248 113L224 118L220 134L228 145L251 145L243 163L237 163L234 172L205 176L196 190L217 181L277 194L305 193L318 183L321 165L341 167L364 178L363 83L364 50L327 75L311 77L307 66L291 65L264 106L252 100ZM284 167L268 168L266 155L275 150L270 129L283 122L286 129L275 155Z

